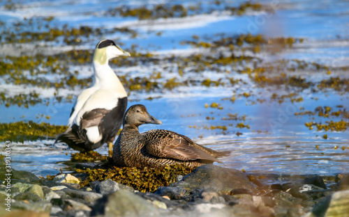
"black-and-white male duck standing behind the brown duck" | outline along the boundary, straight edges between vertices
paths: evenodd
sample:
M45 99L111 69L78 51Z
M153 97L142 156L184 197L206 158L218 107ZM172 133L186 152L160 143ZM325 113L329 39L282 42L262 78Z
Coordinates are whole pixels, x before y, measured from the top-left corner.
M94 77L90 88L82 91L70 113L68 129L56 140L80 152L108 143L110 153L127 108L127 94L109 66L111 58L131 56L112 40L101 40L94 51Z

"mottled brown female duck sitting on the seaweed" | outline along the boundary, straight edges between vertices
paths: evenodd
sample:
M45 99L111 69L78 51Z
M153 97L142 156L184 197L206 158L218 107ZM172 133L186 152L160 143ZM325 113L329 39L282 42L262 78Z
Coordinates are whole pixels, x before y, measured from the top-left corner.
M193 168L214 161L222 163L217 157L230 154L198 145L174 131L153 129L140 134L138 127L142 124L162 123L149 115L145 106L131 106L113 148L112 158L117 166L160 168L180 163Z

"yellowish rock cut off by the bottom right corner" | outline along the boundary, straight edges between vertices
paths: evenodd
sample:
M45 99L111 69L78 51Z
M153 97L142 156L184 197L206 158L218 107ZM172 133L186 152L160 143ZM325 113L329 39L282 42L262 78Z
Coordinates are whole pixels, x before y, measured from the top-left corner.
M315 204L307 216L349 216L349 190L337 191L327 196Z

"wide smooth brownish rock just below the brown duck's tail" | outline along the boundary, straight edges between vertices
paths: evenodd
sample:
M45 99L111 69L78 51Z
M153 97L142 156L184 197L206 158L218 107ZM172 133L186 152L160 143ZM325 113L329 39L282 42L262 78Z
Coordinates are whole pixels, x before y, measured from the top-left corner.
M245 188L254 191L253 184L244 173L230 168L221 168L213 164L206 164L184 176L181 182L188 183L191 188L213 191L232 191L235 188ZM183 184L181 184L183 185ZM177 182L171 186L179 186ZM185 189L185 188L184 188Z

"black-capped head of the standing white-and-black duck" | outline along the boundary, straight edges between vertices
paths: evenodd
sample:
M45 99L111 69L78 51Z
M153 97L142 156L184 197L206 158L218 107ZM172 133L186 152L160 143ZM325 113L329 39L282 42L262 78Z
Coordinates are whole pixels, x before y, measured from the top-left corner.
M117 56L131 56L131 54L115 45L112 40L106 39L98 42L94 51L94 61L103 65L108 63L111 58L115 58Z

